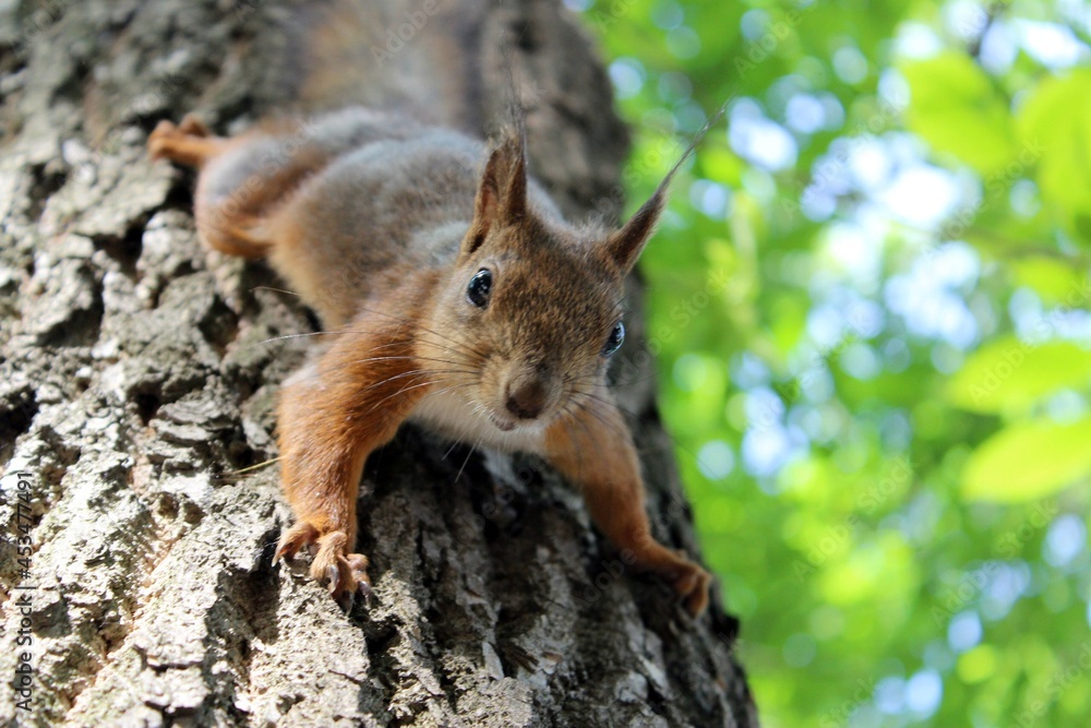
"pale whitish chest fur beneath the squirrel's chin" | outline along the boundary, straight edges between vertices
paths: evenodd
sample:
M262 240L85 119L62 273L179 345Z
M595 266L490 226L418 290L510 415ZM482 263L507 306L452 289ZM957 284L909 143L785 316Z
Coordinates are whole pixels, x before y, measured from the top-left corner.
M480 405L457 391L429 393L412 410L409 419L443 437L473 446L539 455L546 446L544 428L519 427L504 432L493 425Z

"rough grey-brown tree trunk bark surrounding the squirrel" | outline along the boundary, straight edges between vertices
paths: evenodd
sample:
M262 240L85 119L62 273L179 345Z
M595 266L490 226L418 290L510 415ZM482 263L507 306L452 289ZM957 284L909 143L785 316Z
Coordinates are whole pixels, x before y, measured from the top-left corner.
M311 320L264 265L200 247L192 176L143 144L192 109L230 131L320 105L289 50L314 33L367 67L338 98L481 133L504 106L506 29L533 171L570 213L612 201L626 135L573 19L539 0L441 2L379 73L370 51L424 5L323 26L315 3L273 0L0 3L0 723L756 725L718 596L694 621L619 571L578 493L530 458L406 428L367 468L375 593L350 614L272 563L288 518L276 467L236 472L276 455L273 403L305 343L269 339ZM656 534L697 553L646 368L630 362L623 402ZM32 643L13 648L24 616ZM29 712L10 681L22 652Z

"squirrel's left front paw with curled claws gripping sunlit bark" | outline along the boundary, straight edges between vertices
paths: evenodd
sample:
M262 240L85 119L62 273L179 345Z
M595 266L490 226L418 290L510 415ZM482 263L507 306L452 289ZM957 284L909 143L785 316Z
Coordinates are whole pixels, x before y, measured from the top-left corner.
M346 609L351 608L356 594L367 598L371 595L368 578L368 557L362 553L347 553L348 536L343 530L321 533L307 521L300 521L280 537L275 559L291 559L307 547L314 554L311 562L311 578L327 583L329 594Z

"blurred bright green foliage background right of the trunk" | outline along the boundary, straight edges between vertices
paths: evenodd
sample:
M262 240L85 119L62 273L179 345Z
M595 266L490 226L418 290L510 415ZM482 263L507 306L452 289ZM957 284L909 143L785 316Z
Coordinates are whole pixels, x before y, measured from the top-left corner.
M566 1L765 725L1091 725L1091 8Z

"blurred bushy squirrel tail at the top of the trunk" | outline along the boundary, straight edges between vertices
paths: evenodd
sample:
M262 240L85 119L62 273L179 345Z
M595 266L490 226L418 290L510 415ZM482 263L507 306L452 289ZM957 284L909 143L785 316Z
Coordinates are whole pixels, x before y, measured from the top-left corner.
M255 34L279 44L252 63L259 116L363 106L481 133L485 0L286 4L255 16Z

